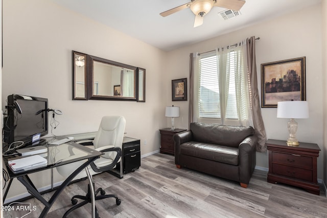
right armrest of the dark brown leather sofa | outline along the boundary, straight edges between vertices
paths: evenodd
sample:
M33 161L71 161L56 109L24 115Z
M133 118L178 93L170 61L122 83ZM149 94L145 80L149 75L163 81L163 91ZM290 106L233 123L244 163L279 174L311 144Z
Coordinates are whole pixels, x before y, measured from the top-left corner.
M249 184L255 167L255 146L258 138L255 135L246 137L239 146L240 182Z

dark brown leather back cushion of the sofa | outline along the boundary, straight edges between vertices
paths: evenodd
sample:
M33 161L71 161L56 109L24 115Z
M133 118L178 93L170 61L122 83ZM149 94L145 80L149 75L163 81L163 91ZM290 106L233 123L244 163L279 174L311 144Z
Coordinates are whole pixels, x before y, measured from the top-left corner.
M222 146L239 147L239 144L254 134L252 127L224 126L219 124L191 123L190 130L194 141Z

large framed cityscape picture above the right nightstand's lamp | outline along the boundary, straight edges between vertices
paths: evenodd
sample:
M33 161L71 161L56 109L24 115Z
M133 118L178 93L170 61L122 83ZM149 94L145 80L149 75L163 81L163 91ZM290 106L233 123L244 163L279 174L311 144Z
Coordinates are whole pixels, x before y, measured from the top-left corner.
M261 107L306 100L306 57L261 64Z

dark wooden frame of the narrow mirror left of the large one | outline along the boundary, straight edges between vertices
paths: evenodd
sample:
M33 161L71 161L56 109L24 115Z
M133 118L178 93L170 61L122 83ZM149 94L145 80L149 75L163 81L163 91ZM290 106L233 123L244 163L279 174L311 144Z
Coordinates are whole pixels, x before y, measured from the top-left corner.
M79 98L76 97L76 64L75 64L75 55L79 55L79 56L84 56L84 98ZM76 51L72 51L72 66L73 66L73 100L87 100L87 54L81 53L81 52L76 52Z

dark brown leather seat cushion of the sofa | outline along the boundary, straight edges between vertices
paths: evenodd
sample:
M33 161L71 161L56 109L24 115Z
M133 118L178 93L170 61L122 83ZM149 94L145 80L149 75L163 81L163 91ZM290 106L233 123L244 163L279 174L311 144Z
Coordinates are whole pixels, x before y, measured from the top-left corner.
M180 154L238 165L239 149L218 144L189 141L180 145Z

